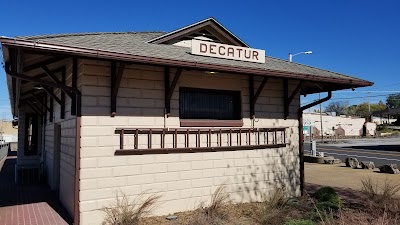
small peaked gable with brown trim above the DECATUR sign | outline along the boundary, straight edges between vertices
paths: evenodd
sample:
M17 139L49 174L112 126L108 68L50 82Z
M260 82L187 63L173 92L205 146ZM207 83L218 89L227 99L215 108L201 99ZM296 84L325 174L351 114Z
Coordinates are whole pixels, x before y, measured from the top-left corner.
M244 41L242 41L240 38L238 38L236 35L234 35L212 17L182 27L178 30L166 33L162 36L153 38L149 40L148 43L165 44L171 40L179 40L180 38L186 37L196 32L199 32L200 35L207 35L204 34L204 32L207 32L209 33L209 35L214 36L216 39L223 42L224 44L249 47Z

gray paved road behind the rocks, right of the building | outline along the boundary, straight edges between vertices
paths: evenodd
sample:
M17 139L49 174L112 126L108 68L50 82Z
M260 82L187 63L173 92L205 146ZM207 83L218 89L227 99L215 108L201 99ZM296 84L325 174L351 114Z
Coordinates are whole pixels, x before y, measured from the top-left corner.
M310 151L310 144L304 150ZM400 140L396 139L362 139L344 140L338 144L317 144L317 151L334 156L343 162L347 157L356 157L359 161L373 161L375 166L383 164L400 165Z

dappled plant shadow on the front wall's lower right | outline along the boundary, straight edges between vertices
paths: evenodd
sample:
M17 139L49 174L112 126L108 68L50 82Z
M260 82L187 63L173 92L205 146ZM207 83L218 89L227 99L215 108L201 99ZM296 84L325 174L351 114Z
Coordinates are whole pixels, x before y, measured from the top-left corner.
M292 129L288 136L297 136ZM237 190L233 190L239 200L264 201L277 189L285 191L289 196L300 194L300 158L297 144L288 138L287 148L262 149L260 161L255 158L245 157L250 163L241 171L237 168L234 183ZM297 140L297 139L295 139ZM246 152L245 152L246 155ZM255 161L257 160L257 161ZM240 175L244 174L244 175Z

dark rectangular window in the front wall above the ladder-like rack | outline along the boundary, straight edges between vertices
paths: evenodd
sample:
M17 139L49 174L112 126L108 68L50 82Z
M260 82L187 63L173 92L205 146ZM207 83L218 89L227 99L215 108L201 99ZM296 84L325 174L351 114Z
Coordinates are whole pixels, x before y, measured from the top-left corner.
M180 119L240 120L240 91L179 89Z

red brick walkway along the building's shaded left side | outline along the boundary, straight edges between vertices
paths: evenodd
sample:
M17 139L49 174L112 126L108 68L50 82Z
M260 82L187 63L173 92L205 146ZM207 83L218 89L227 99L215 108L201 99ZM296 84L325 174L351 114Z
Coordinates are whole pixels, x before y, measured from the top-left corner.
M0 225L58 225L72 220L45 184L16 185L15 156L8 156L0 172Z

